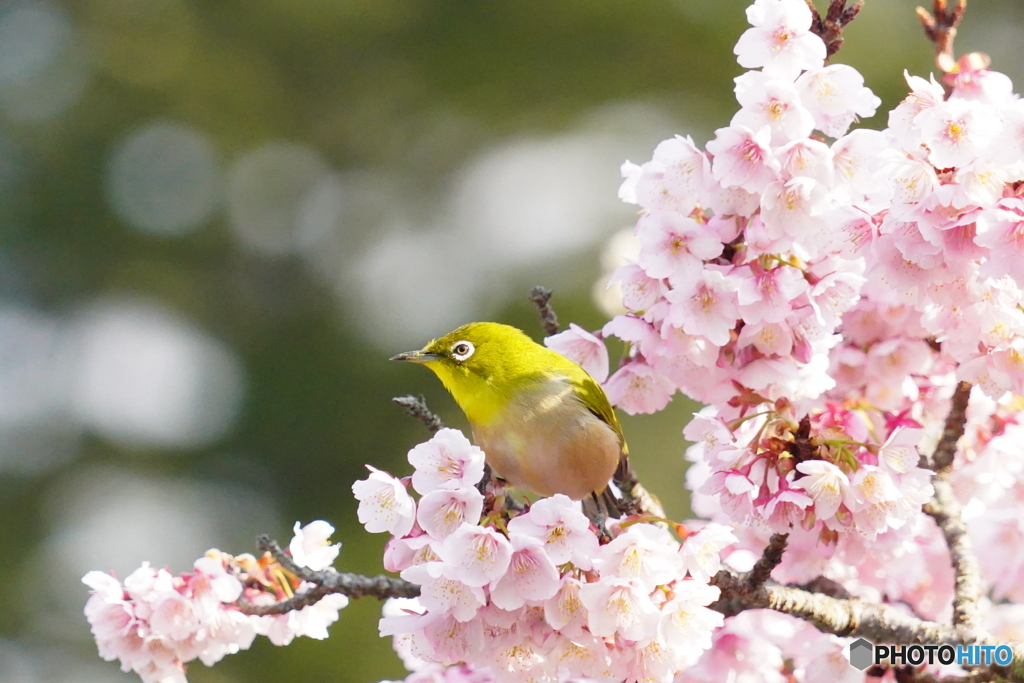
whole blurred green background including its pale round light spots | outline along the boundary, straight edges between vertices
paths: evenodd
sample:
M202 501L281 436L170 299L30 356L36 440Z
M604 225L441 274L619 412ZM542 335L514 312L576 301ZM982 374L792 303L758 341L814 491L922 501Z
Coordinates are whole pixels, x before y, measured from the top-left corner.
M0 0L0 681L137 680L96 656L89 569L324 518L379 571L350 484L427 436L390 398L465 425L386 358L472 319L540 338L536 284L599 327L620 164L728 124L745 4ZM883 111L931 70L913 4L868 0L837 58ZM958 51L1019 77L1022 18L972 3ZM679 518L693 410L625 424ZM379 609L189 679L401 678Z

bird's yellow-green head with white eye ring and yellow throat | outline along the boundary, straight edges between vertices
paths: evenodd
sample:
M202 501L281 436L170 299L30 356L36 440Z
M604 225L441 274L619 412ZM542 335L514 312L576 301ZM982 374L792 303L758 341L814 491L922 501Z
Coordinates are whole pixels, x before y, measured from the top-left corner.
M551 353L511 326L470 323L391 359L430 368L470 422L485 423L518 387L545 370Z

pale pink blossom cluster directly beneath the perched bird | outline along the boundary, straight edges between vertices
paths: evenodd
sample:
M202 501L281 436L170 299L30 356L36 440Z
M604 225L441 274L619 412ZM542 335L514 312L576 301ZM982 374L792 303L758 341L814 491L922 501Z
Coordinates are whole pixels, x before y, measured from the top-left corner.
M499 681L671 681L711 645L723 617L707 607L719 596L708 582L735 541L728 527L680 544L634 519L602 545L565 496L509 509L502 493L481 493L483 454L459 431L438 431L409 461L408 484L371 468L352 488L367 529L394 535L385 567L422 587L380 627L411 668L466 665Z

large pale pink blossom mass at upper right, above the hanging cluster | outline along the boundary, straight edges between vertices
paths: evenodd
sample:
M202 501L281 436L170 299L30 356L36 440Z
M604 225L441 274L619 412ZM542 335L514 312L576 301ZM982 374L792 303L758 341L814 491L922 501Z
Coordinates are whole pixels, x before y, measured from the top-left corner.
M968 55L948 96L907 76L887 129L849 131L880 100L853 68L823 65L806 3L757 0L748 18L730 125L705 150L676 136L623 167L621 197L641 215L639 253L613 276L629 312L598 335L631 349L605 384L612 402L649 413L681 390L723 412L744 392L812 404L836 386L829 351L858 301L916 331L867 371L897 354L924 372L931 342L957 379L1020 391L1024 103L1009 79ZM884 410L900 395L873 389Z

